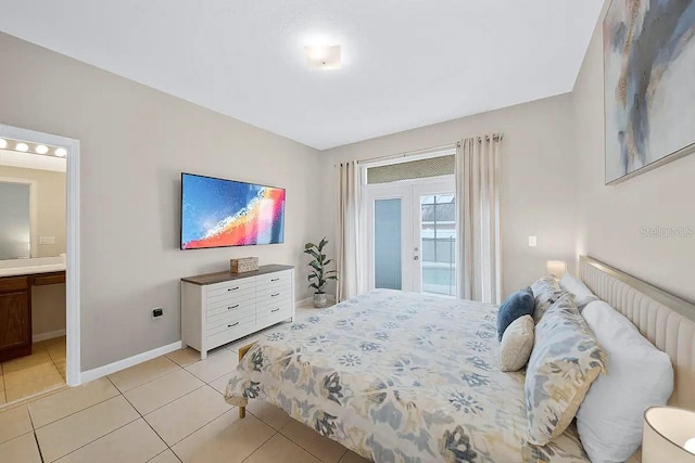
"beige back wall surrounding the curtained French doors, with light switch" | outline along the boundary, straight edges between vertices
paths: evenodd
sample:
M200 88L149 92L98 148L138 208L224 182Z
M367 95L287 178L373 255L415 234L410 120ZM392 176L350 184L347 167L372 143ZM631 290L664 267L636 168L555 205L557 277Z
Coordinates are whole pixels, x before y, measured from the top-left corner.
M333 241L333 165L503 132L502 240L504 293L531 284L548 259L573 262L576 162L569 95L559 95L336 147L324 158L324 229ZM529 235L538 247L528 246Z

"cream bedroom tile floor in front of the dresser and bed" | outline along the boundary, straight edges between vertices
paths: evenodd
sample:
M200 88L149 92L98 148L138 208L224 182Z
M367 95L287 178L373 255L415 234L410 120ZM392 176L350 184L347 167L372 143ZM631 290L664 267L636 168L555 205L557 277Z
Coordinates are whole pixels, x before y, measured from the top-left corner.
M252 401L239 420L223 391L239 347L256 336L203 361L178 350L0 411L0 462L365 462L268 403Z

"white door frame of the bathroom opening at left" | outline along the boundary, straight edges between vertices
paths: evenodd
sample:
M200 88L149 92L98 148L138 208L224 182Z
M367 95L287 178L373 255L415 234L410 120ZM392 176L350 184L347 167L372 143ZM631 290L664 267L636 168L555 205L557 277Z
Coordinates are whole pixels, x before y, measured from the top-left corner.
M62 146L67 150L66 171L66 356L65 376L68 386L81 384L80 301L79 301L79 140L0 124L0 138Z

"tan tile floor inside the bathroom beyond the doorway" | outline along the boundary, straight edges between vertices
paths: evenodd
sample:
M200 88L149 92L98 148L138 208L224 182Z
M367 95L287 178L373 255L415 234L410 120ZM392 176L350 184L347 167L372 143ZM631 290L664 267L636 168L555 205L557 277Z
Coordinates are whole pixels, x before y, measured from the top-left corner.
M65 386L65 336L34 343L31 350L0 364L0 406Z

